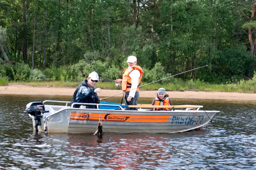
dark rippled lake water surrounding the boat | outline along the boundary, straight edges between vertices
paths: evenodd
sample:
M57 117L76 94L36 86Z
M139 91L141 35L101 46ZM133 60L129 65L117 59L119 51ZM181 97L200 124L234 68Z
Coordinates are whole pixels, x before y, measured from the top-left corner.
M97 137L35 134L23 110L40 100L70 101L71 96L0 95L0 169L256 169L256 102L172 100L221 112L202 131L118 134L104 133L103 124L103 135Z

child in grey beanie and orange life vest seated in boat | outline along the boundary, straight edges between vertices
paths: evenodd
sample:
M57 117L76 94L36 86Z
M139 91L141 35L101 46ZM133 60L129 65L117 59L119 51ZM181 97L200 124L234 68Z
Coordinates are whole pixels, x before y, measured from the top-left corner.
M155 99L153 99L152 105L155 106L170 106L172 104L172 100L169 99L169 95L166 94L164 88L160 88L157 91ZM170 110L170 108L154 108L153 110Z

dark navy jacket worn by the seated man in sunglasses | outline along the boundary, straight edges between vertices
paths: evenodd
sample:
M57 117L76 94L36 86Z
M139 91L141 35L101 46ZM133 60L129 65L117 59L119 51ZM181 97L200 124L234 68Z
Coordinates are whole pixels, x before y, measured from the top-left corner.
M87 84L87 80L84 80L81 85L76 88L73 94L71 105L77 103L98 103L98 95L94 92L94 88L90 88ZM81 105L74 105L73 107L79 108ZM97 108L96 105L85 105L86 108Z

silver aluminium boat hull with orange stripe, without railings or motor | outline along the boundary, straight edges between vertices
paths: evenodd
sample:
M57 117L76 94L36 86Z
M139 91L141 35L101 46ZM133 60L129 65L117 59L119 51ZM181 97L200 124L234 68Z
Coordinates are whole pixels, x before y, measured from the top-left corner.
M45 108L53 106L45 105ZM57 107L57 106L56 106ZM65 107L44 116L46 131L54 133L94 133L99 119L102 121L103 133L175 133L203 128L219 111L175 110L175 111L139 111L80 109ZM53 109L52 109L53 110ZM57 108L58 110L58 108ZM34 122L33 122L34 123ZM41 119L39 131L44 131Z

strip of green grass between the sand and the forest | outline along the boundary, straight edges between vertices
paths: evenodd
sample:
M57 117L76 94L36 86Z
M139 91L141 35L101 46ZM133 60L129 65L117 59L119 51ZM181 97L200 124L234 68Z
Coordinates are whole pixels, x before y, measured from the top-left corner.
M48 86L48 87L73 87L76 88L82 83L82 81L30 81L30 82L18 82L25 85L31 86ZM145 85L147 83L141 83ZM109 90L121 90L121 87L116 87L115 82L98 82L97 87L101 89ZM166 89L166 91L183 91L183 90L192 90L192 91L215 91L215 92L246 92L254 93L256 92L256 83L254 81L243 81L241 80L237 84L209 84L200 80L177 80L173 83L152 83L141 87L141 90L158 90L160 87Z

